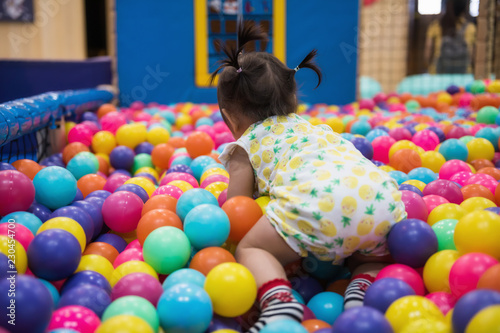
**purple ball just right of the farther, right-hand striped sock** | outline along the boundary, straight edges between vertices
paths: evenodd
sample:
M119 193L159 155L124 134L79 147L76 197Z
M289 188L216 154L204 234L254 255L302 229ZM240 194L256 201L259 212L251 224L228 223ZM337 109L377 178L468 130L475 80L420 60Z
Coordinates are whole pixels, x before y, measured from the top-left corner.
M366 290L363 304L385 313L398 298L415 295L415 290L403 280L384 278L373 282Z

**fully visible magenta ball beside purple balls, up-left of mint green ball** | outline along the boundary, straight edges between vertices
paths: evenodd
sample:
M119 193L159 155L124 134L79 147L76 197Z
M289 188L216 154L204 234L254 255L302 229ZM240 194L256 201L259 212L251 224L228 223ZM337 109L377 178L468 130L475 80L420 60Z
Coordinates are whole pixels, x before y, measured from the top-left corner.
M142 199L132 192L115 192L102 205L104 223L116 232L134 231L141 219L143 205Z

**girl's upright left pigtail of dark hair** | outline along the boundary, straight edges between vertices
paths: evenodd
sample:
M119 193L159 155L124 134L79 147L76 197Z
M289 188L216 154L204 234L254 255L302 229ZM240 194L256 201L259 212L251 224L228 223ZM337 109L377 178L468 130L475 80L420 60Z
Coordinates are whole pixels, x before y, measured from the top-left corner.
M227 43L217 40L217 46L222 49L227 58L219 60L219 67L210 76L210 84L213 84L215 77L224 67L234 67L238 73L241 72L240 65L238 64L238 56L243 52L246 44L255 40L264 41L267 40L267 36L262 32L260 26L256 25L254 22L249 21L244 24L242 20L238 21L238 39L236 47L229 46Z

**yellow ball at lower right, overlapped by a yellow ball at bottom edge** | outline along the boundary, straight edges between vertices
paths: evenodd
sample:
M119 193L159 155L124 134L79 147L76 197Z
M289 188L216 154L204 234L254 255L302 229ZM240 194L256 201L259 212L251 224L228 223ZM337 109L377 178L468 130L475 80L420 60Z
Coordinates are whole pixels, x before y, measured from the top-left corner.
M446 323L444 315L437 305L423 296L404 296L397 299L389 306L385 317L394 332L401 332L405 326L419 319Z

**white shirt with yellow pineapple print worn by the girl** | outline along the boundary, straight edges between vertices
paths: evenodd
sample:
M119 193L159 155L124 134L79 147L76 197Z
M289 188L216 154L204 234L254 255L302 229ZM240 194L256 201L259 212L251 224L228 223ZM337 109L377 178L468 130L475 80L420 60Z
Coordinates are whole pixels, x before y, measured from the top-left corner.
M392 225L406 217L397 183L328 126L296 114L251 125L219 156L226 166L236 146L252 164L266 216L299 255L340 263L359 251L387 254Z

